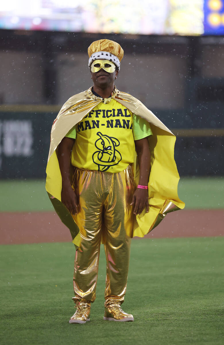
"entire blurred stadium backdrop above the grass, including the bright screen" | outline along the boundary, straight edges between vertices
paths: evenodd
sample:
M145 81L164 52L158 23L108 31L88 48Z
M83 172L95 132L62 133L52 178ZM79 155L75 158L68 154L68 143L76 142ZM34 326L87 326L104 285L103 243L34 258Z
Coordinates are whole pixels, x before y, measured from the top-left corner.
M0 13L0 178L44 178L52 122L90 86L87 48L105 37L125 52L116 86L177 135L180 175L223 175L223 1L11 0Z

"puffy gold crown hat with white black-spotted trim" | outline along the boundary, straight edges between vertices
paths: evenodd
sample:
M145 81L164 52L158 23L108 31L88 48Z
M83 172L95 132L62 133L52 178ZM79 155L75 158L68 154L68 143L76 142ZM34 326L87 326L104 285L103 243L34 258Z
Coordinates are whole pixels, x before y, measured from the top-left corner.
M89 67L94 60L103 59L112 61L118 67L118 70L120 70L120 61L124 56L124 51L119 43L104 39L92 42L88 48L88 54Z

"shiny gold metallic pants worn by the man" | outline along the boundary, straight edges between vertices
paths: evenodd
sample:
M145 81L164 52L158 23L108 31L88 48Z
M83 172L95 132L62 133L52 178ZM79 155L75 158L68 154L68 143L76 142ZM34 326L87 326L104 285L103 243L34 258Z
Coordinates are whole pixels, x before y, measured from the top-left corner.
M132 167L111 174L74 168L73 188L79 212L73 216L81 233L74 262L75 302L94 302L101 238L106 255L105 305L123 303L128 279L134 193Z

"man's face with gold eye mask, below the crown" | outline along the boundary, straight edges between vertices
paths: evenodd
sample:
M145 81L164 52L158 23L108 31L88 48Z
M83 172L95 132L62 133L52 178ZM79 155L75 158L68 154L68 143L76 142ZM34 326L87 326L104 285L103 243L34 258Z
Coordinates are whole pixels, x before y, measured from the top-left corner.
M103 59L99 59L99 60L100 60L99 63L97 63L96 60L93 61L91 65L91 69L97 70L100 67L102 68L99 69L99 71L97 72L91 71L91 76L92 76L94 85L105 88L114 83L114 80L116 79L118 75L118 70L114 70L113 72L107 72L103 68L106 68L107 70L113 70L113 68L111 68L111 65L112 65L111 62L103 60Z

